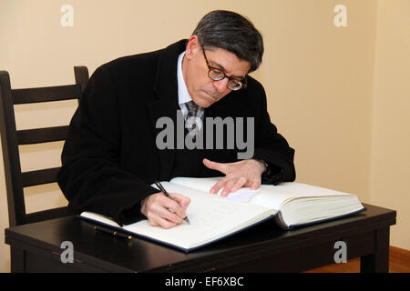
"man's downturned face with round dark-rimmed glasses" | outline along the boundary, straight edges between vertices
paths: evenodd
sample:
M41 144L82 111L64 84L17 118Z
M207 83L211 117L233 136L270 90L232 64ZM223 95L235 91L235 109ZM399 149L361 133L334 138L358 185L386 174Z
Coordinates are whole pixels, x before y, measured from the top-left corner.
M222 48L205 49L205 54L210 66L220 69L225 75L237 80L243 79L251 69L249 62L240 60L235 54ZM198 37L193 35L190 37L182 61L182 74L193 102L205 108L231 92L227 87L227 77L214 81L208 76L208 71Z

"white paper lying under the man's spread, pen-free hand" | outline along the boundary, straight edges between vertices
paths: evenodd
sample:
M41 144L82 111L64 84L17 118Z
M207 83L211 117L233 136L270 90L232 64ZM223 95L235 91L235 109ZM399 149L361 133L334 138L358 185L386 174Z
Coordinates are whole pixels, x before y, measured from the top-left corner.
M202 190L210 195L210 189L215 186L221 178L221 176L209 178L176 177L170 180L170 182L181 186ZM220 196L222 190L223 188L220 189L216 195ZM226 197L233 201L248 202L256 193L258 193L258 189L252 190L250 187L242 187L238 191L230 193Z

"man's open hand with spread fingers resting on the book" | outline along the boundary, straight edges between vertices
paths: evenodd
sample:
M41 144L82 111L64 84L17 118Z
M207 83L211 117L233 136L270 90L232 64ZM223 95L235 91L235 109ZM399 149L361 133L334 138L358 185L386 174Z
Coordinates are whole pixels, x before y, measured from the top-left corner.
M261 186L261 174L266 166L258 160L249 159L235 163L217 163L204 158L203 164L212 170L220 171L225 176L210 189L210 194L216 194L223 188L220 196L228 196L241 187L257 189Z

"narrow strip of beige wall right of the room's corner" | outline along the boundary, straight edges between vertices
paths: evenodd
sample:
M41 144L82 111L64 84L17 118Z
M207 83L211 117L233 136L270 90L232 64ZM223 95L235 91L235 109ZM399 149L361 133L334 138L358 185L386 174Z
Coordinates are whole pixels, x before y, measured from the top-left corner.
M392 245L410 249L410 1L377 9L370 202L397 211Z

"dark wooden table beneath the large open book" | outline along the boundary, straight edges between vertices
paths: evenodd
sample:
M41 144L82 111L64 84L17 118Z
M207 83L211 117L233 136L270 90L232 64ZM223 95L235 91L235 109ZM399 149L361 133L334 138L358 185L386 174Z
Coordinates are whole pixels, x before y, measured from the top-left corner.
M96 232L75 216L5 229L12 272L300 272L334 263L344 241L347 258L361 257L362 272L388 272L395 211L364 205L363 213L283 231L265 222L189 254L133 237ZM74 263L62 263L73 244Z

